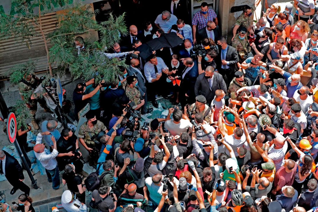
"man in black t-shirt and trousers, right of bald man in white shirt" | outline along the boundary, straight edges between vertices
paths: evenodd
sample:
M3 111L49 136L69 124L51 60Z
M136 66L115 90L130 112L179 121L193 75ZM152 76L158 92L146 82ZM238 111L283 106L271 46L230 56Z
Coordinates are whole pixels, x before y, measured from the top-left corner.
M67 164L73 163L75 172L86 175L83 173L83 163L79 160L82 153L78 151L80 156L75 156L76 149L79 148L79 142L76 135L69 128L64 128L61 132L61 137L56 142L57 150L59 152L56 160L58 161L59 170L64 170Z

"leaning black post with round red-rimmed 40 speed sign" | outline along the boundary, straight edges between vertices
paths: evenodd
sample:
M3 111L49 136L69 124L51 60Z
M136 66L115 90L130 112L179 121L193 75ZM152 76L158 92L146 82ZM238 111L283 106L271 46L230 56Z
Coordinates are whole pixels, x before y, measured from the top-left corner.
M30 177L30 180L31 180L31 186L34 188L34 189L38 189L38 185L37 185L37 180L35 180L33 178L33 175L31 173L31 170L28 166L28 163L26 162L25 158L24 158L24 155L21 151L21 148L19 146L19 143L16 139L16 133L17 133L17 120L16 120L16 116L14 115L14 113L10 113L9 114L9 110L8 110L8 107L7 107L7 104L5 103L4 101L4 98L3 98L3 95L2 95L2 92L0 90L0 111L1 111L1 114L3 116L3 119L4 120L7 120L7 133L8 133L8 139L11 143L14 144L14 147L16 148L17 150L17 153L24 165L24 168L26 170L26 172L28 173L29 177Z

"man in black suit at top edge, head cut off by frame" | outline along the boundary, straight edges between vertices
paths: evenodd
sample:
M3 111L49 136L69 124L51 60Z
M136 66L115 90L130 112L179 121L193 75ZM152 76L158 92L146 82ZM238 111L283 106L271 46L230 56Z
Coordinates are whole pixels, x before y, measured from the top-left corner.
M186 20L186 23L190 23L189 12L186 8L185 0L168 0L166 7L171 14L175 15L177 18Z

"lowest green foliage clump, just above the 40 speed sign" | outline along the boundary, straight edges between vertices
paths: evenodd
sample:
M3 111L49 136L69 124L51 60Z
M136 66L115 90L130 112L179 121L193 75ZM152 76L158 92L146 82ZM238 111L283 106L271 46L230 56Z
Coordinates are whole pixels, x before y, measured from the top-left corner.
M17 104L15 104L12 108L12 111L17 117L17 129L23 127L27 129L28 122L30 119L33 119L33 116L30 113L29 108L25 105L25 102L22 100L18 100Z

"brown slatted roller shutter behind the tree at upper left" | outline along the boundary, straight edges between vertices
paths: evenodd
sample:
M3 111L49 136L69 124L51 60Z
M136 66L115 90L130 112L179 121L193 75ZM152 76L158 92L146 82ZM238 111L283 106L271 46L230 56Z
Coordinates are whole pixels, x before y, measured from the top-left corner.
M56 12L45 14L41 17L42 29L45 34L52 32L56 28L58 20ZM48 43L50 48L50 43ZM14 37L0 39L0 77L6 78L12 66L32 59L36 64L36 72L48 70L46 51L44 42L39 38L31 38L31 49L26 44L17 42ZM56 68L52 64L52 68Z

